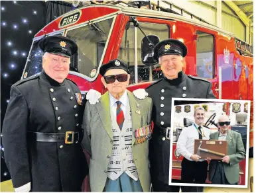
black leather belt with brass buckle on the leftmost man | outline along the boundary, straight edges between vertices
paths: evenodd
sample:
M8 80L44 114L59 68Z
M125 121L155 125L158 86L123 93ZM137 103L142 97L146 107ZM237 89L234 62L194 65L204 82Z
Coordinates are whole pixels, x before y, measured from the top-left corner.
M66 144L78 143L82 141L84 132L66 132L66 133L40 133L28 132L29 139L42 142L64 142Z

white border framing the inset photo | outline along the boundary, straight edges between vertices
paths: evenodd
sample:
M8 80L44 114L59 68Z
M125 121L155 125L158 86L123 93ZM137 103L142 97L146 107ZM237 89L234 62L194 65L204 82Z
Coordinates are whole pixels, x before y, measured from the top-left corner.
M231 100L231 99L205 99L205 98L172 98L172 112L171 120L174 120L174 100L188 100L188 101L206 101L206 102L248 102L248 112L247 112L247 141L246 141L246 156L245 156L245 185L225 185L225 184L188 184L188 183L175 183L172 181L172 135L170 136L170 166L169 166L169 185L178 186L204 186L204 187L223 187L223 188L247 188L248 187L248 164L249 164L249 127L250 127L250 110L251 110L251 100ZM171 131L173 134L172 122L170 123Z

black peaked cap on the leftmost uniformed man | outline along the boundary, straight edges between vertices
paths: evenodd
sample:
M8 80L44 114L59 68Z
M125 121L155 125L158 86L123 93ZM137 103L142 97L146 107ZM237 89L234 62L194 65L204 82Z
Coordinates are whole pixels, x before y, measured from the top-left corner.
M78 52L76 42L64 36L48 36L42 38L39 42L39 47L43 52L66 56L68 58Z

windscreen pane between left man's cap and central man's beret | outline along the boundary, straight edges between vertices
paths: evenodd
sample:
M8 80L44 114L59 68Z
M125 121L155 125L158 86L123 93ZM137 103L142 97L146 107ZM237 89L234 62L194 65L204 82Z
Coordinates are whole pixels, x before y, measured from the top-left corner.
M68 30L66 36L78 44L78 53L71 58L70 71L82 73L90 78L96 75L91 71L99 67L112 22L113 18L110 18Z

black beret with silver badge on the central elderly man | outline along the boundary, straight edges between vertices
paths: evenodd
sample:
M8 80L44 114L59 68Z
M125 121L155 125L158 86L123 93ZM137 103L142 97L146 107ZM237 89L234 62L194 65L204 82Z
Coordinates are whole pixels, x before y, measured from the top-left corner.
M124 71L128 72L128 65L121 61L120 59L113 59L110 60L109 63L105 63L101 65L99 69L99 73L103 76L105 75L105 72L109 69L123 69Z

